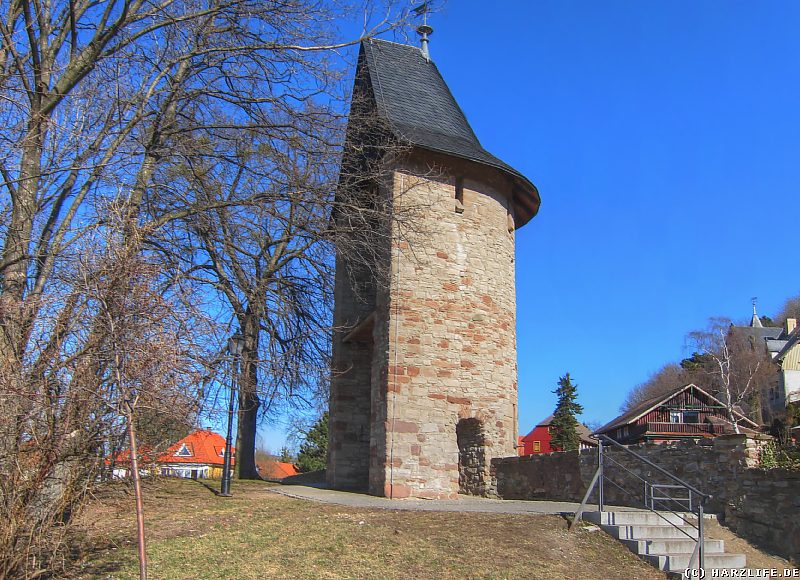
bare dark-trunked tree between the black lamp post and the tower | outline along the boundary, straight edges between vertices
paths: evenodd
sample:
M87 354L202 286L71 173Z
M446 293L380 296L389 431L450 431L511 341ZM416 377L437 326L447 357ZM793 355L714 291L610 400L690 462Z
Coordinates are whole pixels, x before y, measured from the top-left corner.
M307 401L327 368L332 276L324 234L335 166L331 147L319 147L325 140L307 137L315 131L309 126L281 150L248 135L228 160L187 164L180 185L217 207L182 221L158 244L200 292L219 294L244 337L240 478L258 477L259 413Z

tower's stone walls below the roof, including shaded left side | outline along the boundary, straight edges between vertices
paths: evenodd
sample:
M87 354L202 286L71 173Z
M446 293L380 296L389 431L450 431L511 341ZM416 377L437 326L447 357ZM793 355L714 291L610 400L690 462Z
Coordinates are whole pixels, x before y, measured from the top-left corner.
M393 498L486 494L491 458L513 454L517 436L511 183L426 154L382 193L406 219L389 282L356 297L341 273L354 266L337 261L328 482ZM343 339L371 314L371 333Z

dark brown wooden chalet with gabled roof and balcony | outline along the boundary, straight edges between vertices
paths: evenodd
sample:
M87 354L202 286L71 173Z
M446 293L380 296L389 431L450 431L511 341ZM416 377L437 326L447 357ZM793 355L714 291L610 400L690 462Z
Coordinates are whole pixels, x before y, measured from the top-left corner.
M736 413L741 431L758 430L758 425ZM734 433L725 405L694 384L640 403L597 430L624 444L643 441L699 439Z

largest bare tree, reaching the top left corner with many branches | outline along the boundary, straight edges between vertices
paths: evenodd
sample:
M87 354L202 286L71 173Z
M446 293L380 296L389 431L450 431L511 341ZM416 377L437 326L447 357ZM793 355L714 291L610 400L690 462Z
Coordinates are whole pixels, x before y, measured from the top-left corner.
M209 205L172 187L168 168L193 160L198 144L224 155L246 129L287 150L308 123L329 118L331 60L345 44L331 40L332 23L346 8L0 0L0 504L11 522L0 531L0 574L49 566L44 540L80 504L107 443L133 424L131 410L158 409L169 392L155 383L164 388L148 403L131 386L126 373L146 372L136 361L148 359L141 349L120 354L127 331L109 337L136 311L126 297L143 297L130 284L119 297L96 272L121 255L152 266L133 256L147 256L170 223L240 202ZM384 15L365 34L404 17L391 4ZM177 326L186 332L194 313L180 308L181 280L151 273L186 315ZM115 300L122 306L111 308ZM203 348L180 354L163 360L183 368Z

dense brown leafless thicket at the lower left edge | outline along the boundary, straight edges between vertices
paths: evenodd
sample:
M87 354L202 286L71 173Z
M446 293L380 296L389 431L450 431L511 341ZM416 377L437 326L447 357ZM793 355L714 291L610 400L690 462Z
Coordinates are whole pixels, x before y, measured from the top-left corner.
M43 320L34 329L35 348L15 377L13 384L33 396L21 397L15 422L3 423L3 435L16 442L4 449L12 468L0 480L8 522L0 533L4 577L52 565L109 442L133 434L138 409L179 418L192 413L202 370L191 325L198 317L185 311L185 297L163 292L160 267L123 239L121 227L109 228L76 250L59 276L63 294L42 307L53 324ZM131 460L137 459L134 451Z

